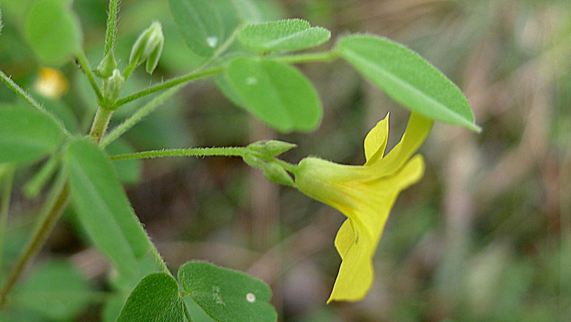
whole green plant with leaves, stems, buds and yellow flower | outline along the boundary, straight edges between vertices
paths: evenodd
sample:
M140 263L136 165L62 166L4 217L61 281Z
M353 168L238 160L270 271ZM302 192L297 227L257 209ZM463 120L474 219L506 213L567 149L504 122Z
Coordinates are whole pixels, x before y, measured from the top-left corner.
M329 41L330 31L301 19L266 21L251 0L169 0L173 18L186 45L206 58L200 68L121 96L131 73L143 66L155 70L165 42L160 23L153 22L133 43L131 55L115 56L118 0L110 0L105 49L100 63L91 65L82 49L81 30L67 1L39 0L27 9L23 33L41 63L59 66L76 59L95 93L98 106L89 134L77 133L44 108L26 90L0 71L1 80L27 103L0 105L0 175L2 182L0 241L4 243L14 171L48 157L35 186L51 182L39 209L36 229L24 251L2 272L0 302L3 316L15 308L34 308L48 318L69 318L89 298L68 298L66 311L50 299L19 301L34 290L89 291L71 266L60 262L31 271L17 287L66 207L74 207L81 227L115 266L122 291L106 301L104 316L119 321L191 321L187 303L194 302L215 321L275 321L266 284L238 271L201 261L189 261L173 276L148 238L126 197L113 160L168 156L238 156L259 168L268 180L288 185L343 212L335 247L343 259L329 301L358 301L373 281L372 259L383 227L399 192L423 176L424 161L415 155L433 120L479 130L463 93L417 54L386 38L346 35L329 51L295 53ZM234 12L223 21L220 12ZM119 68L117 59L126 60ZM339 165L307 157L298 165L278 159L295 145L266 140L245 147L199 147L108 155L105 148L151 113L181 85L213 76L233 103L272 128L287 133L311 131L322 115L313 85L292 63L345 59L365 78L412 111L400 143L385 155L388 117L365 138L367 162ZM160 93L108 131L115 110L126 103ZM38 190L31 189L31 190ZM1 252L0 252L1 254ZM151 254L151 256L149 256ZM153 264L156 263L156 264ZM41 286L44 285L44 286ZM133 289L134 286L134 289ZM63 300L62 300L63 301ZM70 313L71 312L71 313ZM11 315L12 314L12 315Z

